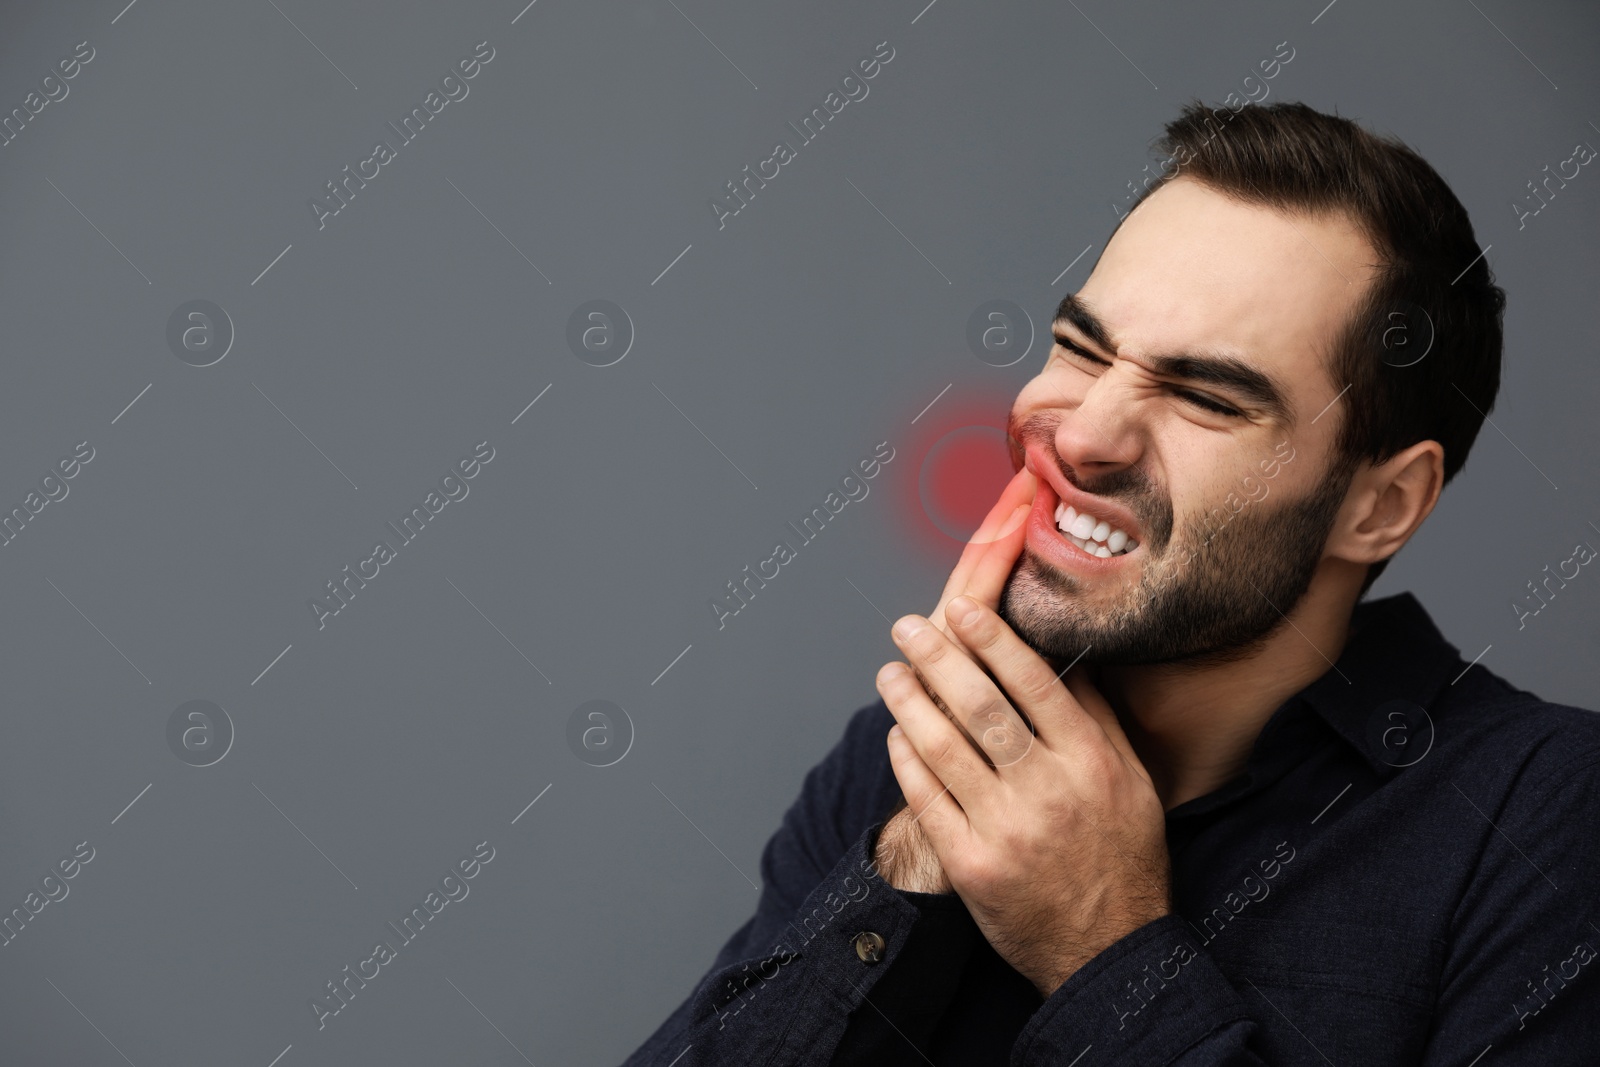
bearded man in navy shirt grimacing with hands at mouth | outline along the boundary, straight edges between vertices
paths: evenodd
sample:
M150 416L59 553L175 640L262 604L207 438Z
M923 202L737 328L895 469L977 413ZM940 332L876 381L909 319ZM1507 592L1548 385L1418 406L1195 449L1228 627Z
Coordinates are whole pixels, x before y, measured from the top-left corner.
M1299 104L1163 149L910 667L630 1065L1600 1062L1600 720L1358 603L1498 390L1467 214Z

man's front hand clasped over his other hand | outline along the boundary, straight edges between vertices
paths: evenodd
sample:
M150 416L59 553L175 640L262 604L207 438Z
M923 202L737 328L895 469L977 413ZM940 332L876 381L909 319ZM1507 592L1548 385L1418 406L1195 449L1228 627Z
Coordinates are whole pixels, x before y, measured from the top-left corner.
M1163 806L1083 669L1062 685L994 608L968 597L946 608L960 646L918 616L894 627L923 681L898 662L878 672L898 721L890 760L984 937L1050 997L1115 941L1171 912Z

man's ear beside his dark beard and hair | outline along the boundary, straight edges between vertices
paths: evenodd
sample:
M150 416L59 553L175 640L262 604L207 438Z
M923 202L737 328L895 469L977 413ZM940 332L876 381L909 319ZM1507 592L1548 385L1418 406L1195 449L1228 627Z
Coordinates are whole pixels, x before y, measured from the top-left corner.
M1350 478L1330 553L1376 563L1400 550L1438 502L1445 485L1445 446L1418 442Z

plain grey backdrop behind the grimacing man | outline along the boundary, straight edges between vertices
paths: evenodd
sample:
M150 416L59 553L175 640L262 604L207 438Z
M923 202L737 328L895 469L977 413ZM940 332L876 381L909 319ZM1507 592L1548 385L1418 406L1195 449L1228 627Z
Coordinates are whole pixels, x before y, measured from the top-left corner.
M1600 174L1510 208L1600 144L1592 5L123 5L0 16L0 110L96 50L0 149L0 506L96 450L0 549L0 910L96 849L0 949L6 1064L619 1062L875 699L878 611L926 611L955 560L918 536L920 454L1043 354L979 362L968 315L1043 330L1160 123L1285 40L1270 99L1418 147L1510 293L1498 429L1376 592L1600 705L1600 579L1520 632L1509 606L1600 536ZM318 232L307 198L482 40L467 99ZM707 197L882 40L870 94L718 232ZM565 342L595 298L638 334L608 368ZM190 299L237 326L210 368L166 347ZM318 630L307 598L485 438ZM709 597L880 440L872 494L718 632ZM190 699L237 729L208 768L166 745ZM608 768L566 744L590 699L637 729ZM318 1032L307 1000L482 840L470 896Z

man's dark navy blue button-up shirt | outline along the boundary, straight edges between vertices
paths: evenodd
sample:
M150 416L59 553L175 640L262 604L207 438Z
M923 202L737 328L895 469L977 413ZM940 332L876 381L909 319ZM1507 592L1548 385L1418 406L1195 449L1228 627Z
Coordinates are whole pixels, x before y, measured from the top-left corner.
M755 915L626 1067L1600 1064L1600 717L1469 667L1410 593L1166 813L1174 913L1048 998L960 897L877 877L891 725L806 774Z

